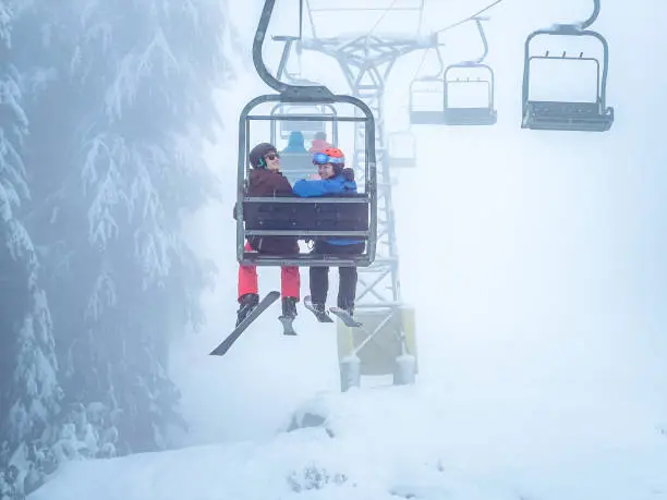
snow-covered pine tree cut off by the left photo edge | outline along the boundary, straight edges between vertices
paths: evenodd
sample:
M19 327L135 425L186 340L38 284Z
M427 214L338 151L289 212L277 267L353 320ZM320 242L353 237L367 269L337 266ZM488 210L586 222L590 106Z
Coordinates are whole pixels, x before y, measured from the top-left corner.
M0 3L0 499L22 498L44 475L43 437L59 412L51 318L38 259L21 221L29 200L22 148L28 120L13 65L21 5Z

